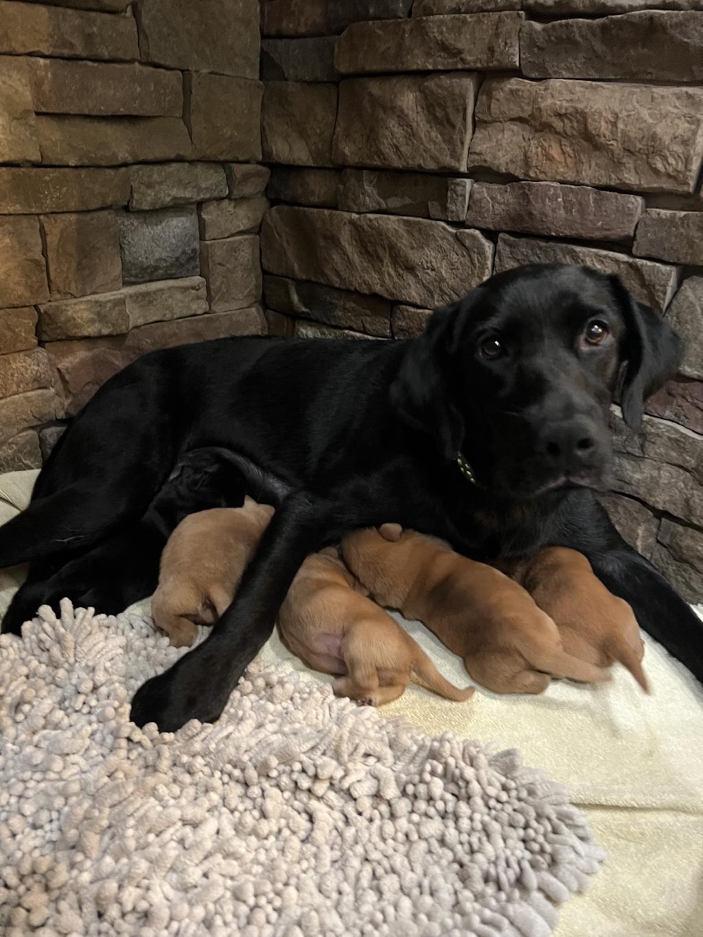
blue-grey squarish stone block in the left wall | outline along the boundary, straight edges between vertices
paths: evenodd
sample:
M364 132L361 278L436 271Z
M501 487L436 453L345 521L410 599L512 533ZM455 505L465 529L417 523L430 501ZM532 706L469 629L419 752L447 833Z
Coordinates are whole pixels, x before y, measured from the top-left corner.
M165 208L118 216L125 283L200 273L196 208Z

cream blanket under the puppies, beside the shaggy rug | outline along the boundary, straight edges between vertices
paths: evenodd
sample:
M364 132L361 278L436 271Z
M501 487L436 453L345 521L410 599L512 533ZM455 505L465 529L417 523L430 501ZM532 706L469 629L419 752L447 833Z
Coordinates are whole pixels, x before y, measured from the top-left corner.
M0 523L28 501L36 472L0 476ZM21 571L0 573L0 610ZM148 613L148 602L142 603ZM462 684L461 662L418 623L404 622L445 677ZM427 734L452 731L516 748L587 811L606 865L591 889L561 908L558 937L700 937L703 933L703 692L678 662L646 639L653 695L621 668L605 687L553 683L539 697L479 688L449 703L419 687L381 712ZM263 665L279 663L326 681L293 659L277 637Z

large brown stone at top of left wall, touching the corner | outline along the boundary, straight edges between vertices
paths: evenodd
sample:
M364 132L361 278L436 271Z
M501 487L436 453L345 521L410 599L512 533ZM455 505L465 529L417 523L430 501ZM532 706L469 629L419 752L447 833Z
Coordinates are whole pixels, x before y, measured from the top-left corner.
M259 78L259 11L251 0L140 0L142 62Z

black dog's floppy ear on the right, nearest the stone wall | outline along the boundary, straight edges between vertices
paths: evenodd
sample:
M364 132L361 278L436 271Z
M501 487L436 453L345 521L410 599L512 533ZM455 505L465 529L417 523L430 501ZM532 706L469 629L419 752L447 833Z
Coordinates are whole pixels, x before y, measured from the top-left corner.
M622 415L628 426L638 429L645 400L664 387L681 364L683 342L649 305L632 298L618 276L611 276L610 282L626 326L621 346L621 359L625 364Z

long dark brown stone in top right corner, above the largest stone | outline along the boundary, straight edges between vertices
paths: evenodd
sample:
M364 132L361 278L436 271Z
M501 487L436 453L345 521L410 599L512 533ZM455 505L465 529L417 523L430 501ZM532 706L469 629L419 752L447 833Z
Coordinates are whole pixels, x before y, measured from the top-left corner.
M699 82L703 13L651 10L599 20L526 22L520 70L530 78Z

